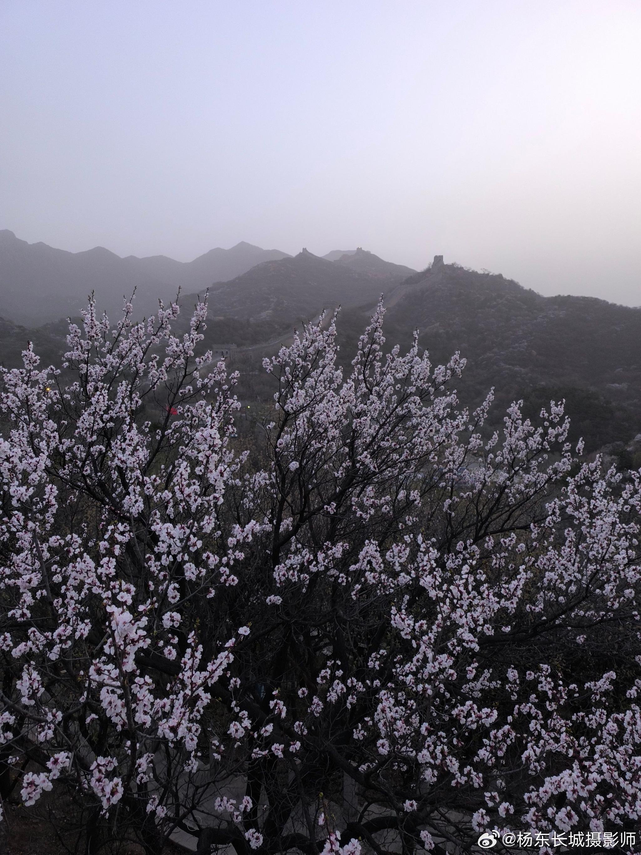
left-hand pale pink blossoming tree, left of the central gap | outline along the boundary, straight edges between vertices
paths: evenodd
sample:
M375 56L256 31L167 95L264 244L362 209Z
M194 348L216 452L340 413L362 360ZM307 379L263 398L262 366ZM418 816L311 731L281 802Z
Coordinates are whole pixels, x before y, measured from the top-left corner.
M0 780L6 795L21 769L26 805L56 782L73 790L88 852L129 826L160 852L168 805L172 823L188 815L200 720L242 637L210 635L204 661L189 620L240 554L203 545L238 466L237 404L223 367L202 374L207 355L194 359L204 305L182 340L177 313L134 324L129 304L111 330L91 304L62 373L31 349L3 372ZM139 415L161 390L152 428Z

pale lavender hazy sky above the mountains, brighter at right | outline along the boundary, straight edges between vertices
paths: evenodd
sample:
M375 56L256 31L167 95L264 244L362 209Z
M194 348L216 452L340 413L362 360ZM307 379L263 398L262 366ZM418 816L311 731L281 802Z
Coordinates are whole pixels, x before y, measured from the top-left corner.
M641 304L639 0L2 0L0 227Z

